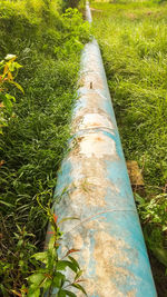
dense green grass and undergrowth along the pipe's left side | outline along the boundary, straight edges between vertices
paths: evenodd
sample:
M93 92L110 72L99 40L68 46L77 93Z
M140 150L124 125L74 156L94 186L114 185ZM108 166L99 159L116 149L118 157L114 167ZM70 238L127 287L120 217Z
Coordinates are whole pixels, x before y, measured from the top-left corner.
M76 9L61 10L53 0L0 1L0 60L14 55L23 90L7 82L16 102L0 135L1 296L21 296L37 265L31 255L43 248L48 220L37 196L51 201L70 135L89 27Z

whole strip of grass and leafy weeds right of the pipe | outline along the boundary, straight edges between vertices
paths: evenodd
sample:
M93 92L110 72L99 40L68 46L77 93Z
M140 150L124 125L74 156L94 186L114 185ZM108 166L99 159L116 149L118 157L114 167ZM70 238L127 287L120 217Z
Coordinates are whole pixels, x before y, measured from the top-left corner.
M137 160L136 194L159 296L167 296L167 3L91 2L94 31L127 160Z

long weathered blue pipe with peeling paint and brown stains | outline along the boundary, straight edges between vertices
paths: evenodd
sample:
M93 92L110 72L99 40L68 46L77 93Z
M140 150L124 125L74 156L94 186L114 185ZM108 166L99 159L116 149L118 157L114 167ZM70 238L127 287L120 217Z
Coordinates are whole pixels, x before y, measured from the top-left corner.
M91 21L89 7L87 16ZM70 151L55 205L63 247L80 249L89 297L157 296L97 41L82 52ZM63 253L63 248L61 248ZM75 290L73 290L75 291ZM76 291L77 296L84 296Z

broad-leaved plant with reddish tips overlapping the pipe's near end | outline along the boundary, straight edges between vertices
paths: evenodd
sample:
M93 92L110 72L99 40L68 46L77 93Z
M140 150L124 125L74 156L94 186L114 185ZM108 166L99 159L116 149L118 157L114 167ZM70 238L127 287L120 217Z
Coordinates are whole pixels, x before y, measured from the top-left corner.
M39 197L37 198L39 201ZM50 205L42 206L39 201L39 205L47 214L47 217L50 222L49 241L46 242L45 251L37 253L32 255L32 258L37 260L36 269L32 275L28 277L29 286L28 288L22 288L22 297L77 297L76 294L71 291L71 287L77 288L87 296L86 290L80 285L82 279L82 270L79 267L78 261L71 257L75 253L78 253L79 249L67 249L63 253L63 256L59 256L59 247L65 248L61 244L63 234L60 230L60 225L63 221L68 221L77 218L63 218L59 220L58 216L53 214ZM71 270L71 277L67 277L66 269ZM23 294L23 293L27 293Z

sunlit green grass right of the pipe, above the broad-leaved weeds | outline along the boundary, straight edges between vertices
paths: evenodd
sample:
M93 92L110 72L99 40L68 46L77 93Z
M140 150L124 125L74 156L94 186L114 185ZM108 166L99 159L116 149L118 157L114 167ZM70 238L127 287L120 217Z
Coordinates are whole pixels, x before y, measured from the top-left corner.
M167 178L167 6L96 3L99 40L126 158L145 166L145 179ZM157 18L156 18L157 16Z

